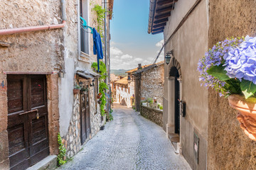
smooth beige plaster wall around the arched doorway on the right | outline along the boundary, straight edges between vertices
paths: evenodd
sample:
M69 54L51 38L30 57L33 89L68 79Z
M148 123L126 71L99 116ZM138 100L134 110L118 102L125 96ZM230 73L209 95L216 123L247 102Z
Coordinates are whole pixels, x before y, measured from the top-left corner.
M186 3L187 4L186 4ZM181 4L185 3L185 4ZM190 1L178 1L176 8L171 12L171 16L183 16L183 10L190 9ZM182 5L183 9L179 8ZM173 50L174 62L165 64L164 98L168 100L168 79L171 67L176 66L182 81L181 99L186 101L186 117L181 117L180 142L182 154L193 169L206 169L206 146L208 138L208 91L201 86L198 81L197 71L198 60L203 57L208 49L208 11L206 1L201 1L195 10L188 16L183 26L178 29L175 35L165 46L165 53ZM164 41L171 35L171 25L175 25L176 20L169 18L164 30ZM169 29L167 29L169 28ZM180 68L178 68L180 67ZM174 88L174 86L172 86ZM164 107L168 107L168 102ZM168 109L174 109L168 107ZM165 110L164 110L165 111ZM167 114L164 112L164 115ZM169 115L174 116L174 115ZM164 116L165 117L165 116ZM171 120L171 119L170 119ZM193 154L193 134L199 136L199 163Z

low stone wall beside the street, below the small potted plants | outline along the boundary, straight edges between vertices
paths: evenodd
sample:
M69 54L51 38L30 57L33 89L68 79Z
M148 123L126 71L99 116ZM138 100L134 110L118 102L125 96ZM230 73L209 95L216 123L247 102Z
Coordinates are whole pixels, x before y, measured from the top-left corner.
M151 120L163 128L163 111L160 111L156 108L141 106L140 113L144 118Z

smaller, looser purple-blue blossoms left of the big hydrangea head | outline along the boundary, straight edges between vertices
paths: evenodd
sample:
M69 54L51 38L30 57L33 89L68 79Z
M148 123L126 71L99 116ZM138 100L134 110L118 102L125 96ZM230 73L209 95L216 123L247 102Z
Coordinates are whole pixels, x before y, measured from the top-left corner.
M209 49L205 56L198 62L198 71L200 72L199 80L204 81L204 86L212 87L216 91L219 91L220 96L228 94L228 91L223 88L225 86L225 81L220 81L211 76L207 73L207 70L212 66L225 64L225 60L223 59L224 56L226 56L230 50L238 47L241 42L242 39L240 38L231 38L218 42L213 48Z

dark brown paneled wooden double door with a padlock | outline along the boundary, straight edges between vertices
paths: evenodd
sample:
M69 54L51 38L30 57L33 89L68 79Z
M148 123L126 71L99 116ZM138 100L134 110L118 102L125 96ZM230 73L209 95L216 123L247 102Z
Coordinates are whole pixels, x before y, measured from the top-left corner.
M49 154L46 76L8 75L10 169L26 169Z

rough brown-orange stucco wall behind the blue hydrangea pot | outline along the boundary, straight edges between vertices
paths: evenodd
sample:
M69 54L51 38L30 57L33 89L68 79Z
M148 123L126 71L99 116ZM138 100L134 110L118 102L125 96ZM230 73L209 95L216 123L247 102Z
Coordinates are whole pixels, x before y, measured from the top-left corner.
M210 0L208 47L225 38L256 35L256 1ZM209 89L208 169L256 169L256 143L240 129L228 99Z

